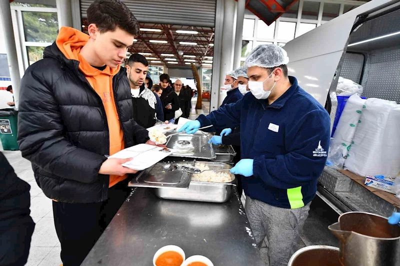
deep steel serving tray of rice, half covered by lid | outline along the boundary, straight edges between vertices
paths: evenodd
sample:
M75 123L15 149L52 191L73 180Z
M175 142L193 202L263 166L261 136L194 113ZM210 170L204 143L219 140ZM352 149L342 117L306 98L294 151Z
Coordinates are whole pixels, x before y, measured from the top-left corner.
M200 161L198 161L200 162ZM218 162L201 162L210 169L230 169L232 165ZM191 181L187 189L174 188L156 188L155 195L160 199L181 200L181 201L199 201L223 203L230 199L233 194L234 174L231 174L232 180L228 183L212 183Z

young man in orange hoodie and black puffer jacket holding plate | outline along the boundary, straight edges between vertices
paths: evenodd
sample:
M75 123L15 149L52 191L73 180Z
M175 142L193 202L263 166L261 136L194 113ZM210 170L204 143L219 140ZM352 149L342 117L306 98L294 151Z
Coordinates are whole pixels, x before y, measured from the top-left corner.
M19 149L53 200L63 266L82 263L130 193L127 175L137 171L122 164L131 158L108 155L155 145L133 120L129 80L120 71L139 33L136 18L120 0L96 0L86 13L89 35L61 27L21 80Z

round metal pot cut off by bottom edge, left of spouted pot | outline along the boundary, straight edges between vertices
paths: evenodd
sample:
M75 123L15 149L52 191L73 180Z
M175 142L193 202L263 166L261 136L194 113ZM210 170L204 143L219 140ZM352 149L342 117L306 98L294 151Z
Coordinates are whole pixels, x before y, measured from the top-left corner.
M340 266L339 249L330 246L308 246L294 253L287 266Z

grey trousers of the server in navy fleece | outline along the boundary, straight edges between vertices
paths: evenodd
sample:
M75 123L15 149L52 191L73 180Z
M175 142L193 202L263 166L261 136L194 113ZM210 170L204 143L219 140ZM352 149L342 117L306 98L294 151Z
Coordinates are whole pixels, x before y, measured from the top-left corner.
M310 204L298 209L284 209L246 197L244 209L258 248L266 237L267 266L287 266L293 253L300 249L300 232Z

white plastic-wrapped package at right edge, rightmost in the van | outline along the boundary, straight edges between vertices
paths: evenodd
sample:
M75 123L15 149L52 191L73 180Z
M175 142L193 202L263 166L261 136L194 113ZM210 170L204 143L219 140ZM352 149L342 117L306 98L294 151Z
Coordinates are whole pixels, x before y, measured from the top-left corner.
M344 162L360 176L395 177L400 171L400 106L369 98Z

